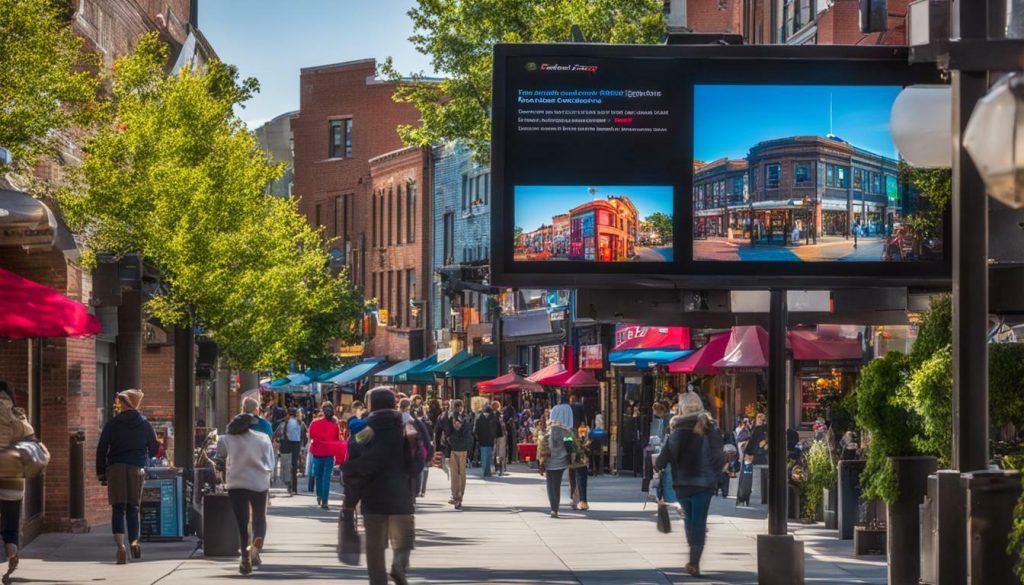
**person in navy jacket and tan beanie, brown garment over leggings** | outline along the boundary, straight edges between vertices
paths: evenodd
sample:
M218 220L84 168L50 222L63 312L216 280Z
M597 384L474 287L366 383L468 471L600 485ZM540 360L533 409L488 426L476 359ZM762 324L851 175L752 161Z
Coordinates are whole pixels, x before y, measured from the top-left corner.
M118 392L114 403L118 414L103 425L96 446L96 475L106 486L118 565L128 562L126 531L132 558L142 557L142 547L138 542L142 483L150 457L156 456L160 450L157 433L138 410L143 395L142 390L136 389Z

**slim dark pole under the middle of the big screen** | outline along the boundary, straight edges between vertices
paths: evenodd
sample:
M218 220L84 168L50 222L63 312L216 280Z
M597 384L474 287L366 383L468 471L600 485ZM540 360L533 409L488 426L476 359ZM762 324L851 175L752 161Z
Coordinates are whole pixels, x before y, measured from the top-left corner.
M785 291L772 289L768 317L768 534L786 534Z

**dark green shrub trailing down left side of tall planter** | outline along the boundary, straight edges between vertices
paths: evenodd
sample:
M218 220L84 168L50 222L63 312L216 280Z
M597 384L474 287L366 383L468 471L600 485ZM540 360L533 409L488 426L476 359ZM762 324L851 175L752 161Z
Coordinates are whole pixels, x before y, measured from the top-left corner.
M906 382L907 357L890 351L864 367L857 380L857 424L867 436L867 464L861 476L865 499L886 503L898 496L890 457L919 455L914 436L921 417L905 408L898 392Z

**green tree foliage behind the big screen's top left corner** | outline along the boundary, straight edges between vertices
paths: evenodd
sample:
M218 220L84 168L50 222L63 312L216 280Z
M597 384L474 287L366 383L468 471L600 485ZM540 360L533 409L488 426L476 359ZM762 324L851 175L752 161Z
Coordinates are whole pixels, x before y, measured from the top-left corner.
M395 99L413 103L419 126L399 128L408 144L464 140L479 161L490 151L492 51L498 43L564 42L579 25L590 42L649 44L665 34L660 0L419 0L410 38L444 79L407 77L390 59Z

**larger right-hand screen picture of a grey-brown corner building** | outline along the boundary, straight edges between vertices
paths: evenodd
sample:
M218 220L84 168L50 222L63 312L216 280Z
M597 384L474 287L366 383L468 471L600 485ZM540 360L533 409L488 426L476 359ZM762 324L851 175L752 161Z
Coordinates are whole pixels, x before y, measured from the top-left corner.
M697 85L693 259L941 259L943 209L900 178L900 89Z

